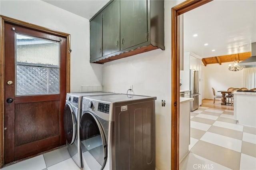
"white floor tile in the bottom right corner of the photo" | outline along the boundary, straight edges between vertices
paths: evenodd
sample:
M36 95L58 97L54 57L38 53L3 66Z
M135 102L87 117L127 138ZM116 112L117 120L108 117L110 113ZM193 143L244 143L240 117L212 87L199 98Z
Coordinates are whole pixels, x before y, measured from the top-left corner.
M256 158L241 154L240 170L256 170Z

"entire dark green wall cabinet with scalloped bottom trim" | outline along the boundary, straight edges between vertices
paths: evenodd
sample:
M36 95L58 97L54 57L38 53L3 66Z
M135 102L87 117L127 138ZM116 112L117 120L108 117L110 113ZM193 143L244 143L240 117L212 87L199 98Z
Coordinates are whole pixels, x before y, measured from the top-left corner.
M91 63L164 50L164 0L111 0L90 19L90 45Z

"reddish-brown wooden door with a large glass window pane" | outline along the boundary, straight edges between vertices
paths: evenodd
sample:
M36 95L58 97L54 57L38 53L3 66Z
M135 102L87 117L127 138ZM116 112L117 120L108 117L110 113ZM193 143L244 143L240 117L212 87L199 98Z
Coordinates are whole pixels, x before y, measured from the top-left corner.
M4 164L64 144L63 37L4 24Z

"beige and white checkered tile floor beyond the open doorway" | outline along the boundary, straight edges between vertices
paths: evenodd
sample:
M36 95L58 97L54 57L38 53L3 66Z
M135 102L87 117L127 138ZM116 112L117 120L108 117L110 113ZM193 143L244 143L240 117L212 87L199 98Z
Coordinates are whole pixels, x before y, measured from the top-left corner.
M256 170L256 128L236 124L232 110L190 113L190 153L180 170Z

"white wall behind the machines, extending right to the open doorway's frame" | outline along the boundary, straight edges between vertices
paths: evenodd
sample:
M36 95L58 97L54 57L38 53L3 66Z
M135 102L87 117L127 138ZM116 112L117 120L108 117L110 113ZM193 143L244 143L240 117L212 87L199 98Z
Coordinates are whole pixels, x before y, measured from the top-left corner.
M104 63L105 91L156 96L156 168L170 170L171 165L171 8L182 1L167 0L165 6L165 51L146 53ZM166 101L162 107L161 100Z

